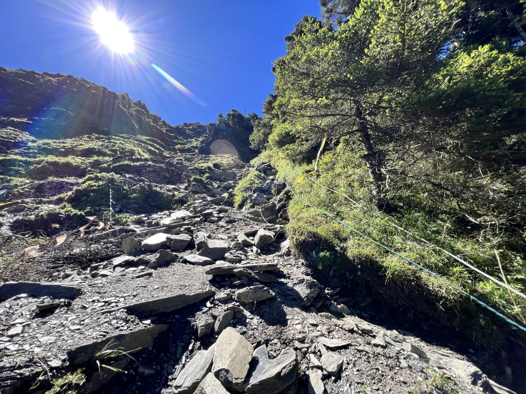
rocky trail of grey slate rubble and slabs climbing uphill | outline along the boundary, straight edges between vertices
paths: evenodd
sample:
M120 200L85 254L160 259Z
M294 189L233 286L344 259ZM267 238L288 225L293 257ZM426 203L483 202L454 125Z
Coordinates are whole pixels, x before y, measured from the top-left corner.
M0 391L512 392L469 354L317 281L290 252L287 191L270 168L254 209L229 206L243 171L187 184L179 210L59 234L54 253L81 264L2 284ZM6 223L23 221L20 205Z

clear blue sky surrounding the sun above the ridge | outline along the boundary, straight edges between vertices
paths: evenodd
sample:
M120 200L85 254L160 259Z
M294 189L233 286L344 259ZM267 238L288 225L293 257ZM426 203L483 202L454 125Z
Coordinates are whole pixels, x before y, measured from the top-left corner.
M91 21L100 5L129 26L134 55L100 44ZM285 53L283 37L303 15L319 15L318 0L0 0L0 9L0 66L128 92L172 125L213 122L231 108L260 113L274 85L272 61Z

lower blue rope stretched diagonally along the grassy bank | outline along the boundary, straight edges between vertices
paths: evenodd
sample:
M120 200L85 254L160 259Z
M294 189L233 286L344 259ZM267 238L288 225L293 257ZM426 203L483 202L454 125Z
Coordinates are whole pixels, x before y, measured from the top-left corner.
M415 262L412 261L410 258L405 257L405 256L402 256L400 253L398 253L398 252L392 250L390 247L388 247L388 246L386 246L386 245L383 245L383 244L381 244L381 243L378 242L378 241L373 240L373 239L372 239L371 237L369 237L368 235L363 234L362 232L360 232L360 231L354 229L353 227L349 226L349 225L346 224L346 223L343 223L341 220L339 220L339 219L338 219L336 216L334 216L333 214L331 214L331 213L329 213L329 212L327 212L327 211L324 211L324 210L322 210L322 209L320 209L320 208L317 208L316 206L313 206L312 204L310 204L310 203L308 203L307 201L305 201L304 199L302 199L298 194L296 194L296 192L294 191L294 189L292 189L292 188L290 187L290 185L287 183L287 181L285 181L285 184L288 186L288 188L290 189L290 191L292 192L292 194L294 194L294 196L295 196L299 201L301 201L302 203L304 203L305 205L310 206L311 208L313 208L313 209L315 209L315 210L317 210L317 211L323 213L324 215L330 217L330 219L332 219L332 220L334 220L334 221L340 223L341 225L347 227L349 230L355 232L356 234L358 234L358 235L364 237L365 239L367 239L367 240L369 240L369 241L375 243L376 245L378 245L378 246L384 248L384 249L387 250L388 252L390 252L390 253L392 253L392 254L394 254L394 255L396 255L396 256L402 258L403 260L407 261L408 263L410 263L410 264L414 265L415 267L421 269L423 272L425 272L425 273L431 275L433 278L440 279L440 281L442 281L442 282L446 283L447 285L451 286L452 288L454 288L456 291L460 292L461 294L463 294L463 295L465 295L465 296L468 296L471 300L473 300L474 302L476 302L476 303L482 305L484 308L490 310L490 312L493 312L495 315L497 315L497 316L499 316L500 318L504 319L506 322L508 322L508 323L511 324L512 326L517 327L517 328L521 329L522 331L525 331L525 332L526 332L526 327L523 327L523 326L521 326L520 324L515 323L515 322L514 322L513 320L511 320L510 318L504 316L503 314L501 314L501 313L498 312L497 310L493 309L491 306L489 306L489 305L483 303L480 299L478 299L478 298L476 298L476 297L473 297L471 294L469 294L468 292L462 290L460 287L458 287L458 286L452 284L451 282L448 281L448 279L443 278L442 276L440 276L440 275L438 275L438 274L436 274L436 273L430 271L429 268L426 268L426 267L424 267L424 266L422 266L422 265L420 265L420 264L418 264L418 263L415 263Z

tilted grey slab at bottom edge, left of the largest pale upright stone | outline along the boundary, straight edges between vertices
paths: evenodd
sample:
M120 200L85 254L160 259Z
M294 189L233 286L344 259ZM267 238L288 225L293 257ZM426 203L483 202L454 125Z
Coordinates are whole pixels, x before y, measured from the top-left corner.
M177 393L194 392L197 389L199 383L212 369L215 348L215 345L212 345L208 350L199 350L190 359L175 380L173 387Z

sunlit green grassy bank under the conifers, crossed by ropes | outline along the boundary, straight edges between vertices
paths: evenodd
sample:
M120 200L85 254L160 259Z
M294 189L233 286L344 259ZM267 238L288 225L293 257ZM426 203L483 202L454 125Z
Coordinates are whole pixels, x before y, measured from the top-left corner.
M355 229L367 234L414 262L429 268L495 309L524 325L523 299L473 273L446 254L397 230L396 223L431 241L474 266L502 280L495 251L508 281L524 292L526 270L520 253L510 247L510 240L489 243L484 229L470 228L452 206L429 208L426 196L412 195L412 204L393 215L379 213L371 201L367 169L356 153L338 148L323 154L316 175L298 181L312 164L293 164L280 158L279 151L264 152L259 159L270 161L278 169L278 178L286 179L294 190L312 205L335 214ZM333 190L365 206L351 203ZM416 204L420 201L420 204ZM432 317L436 323L453 326L488 347L498 347L510 326L474 304L468 297L437 278L420 271L396 255L363 239L346 227L330 220L297 199L289 206L288 233L292 245L302 251L319 268L352 273L356 282L368 282L373 293L400 309ZM509 331L508 331L509 332Z

